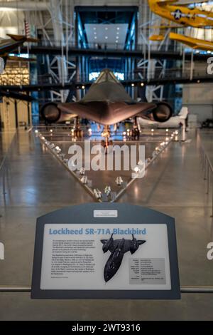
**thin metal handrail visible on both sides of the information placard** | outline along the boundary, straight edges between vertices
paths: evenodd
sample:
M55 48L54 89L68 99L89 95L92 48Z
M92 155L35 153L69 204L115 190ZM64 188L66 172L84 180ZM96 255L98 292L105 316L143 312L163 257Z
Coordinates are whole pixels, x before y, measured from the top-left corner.
M31 292L31 286L28 285L23 285L23 286L18 286L18 285L1 285L0 286L0 292L1 293L30 293ZM213 293L213 287L187 287L183 286L180 287L180 292L181 293L205 293L205 294L212 294Z

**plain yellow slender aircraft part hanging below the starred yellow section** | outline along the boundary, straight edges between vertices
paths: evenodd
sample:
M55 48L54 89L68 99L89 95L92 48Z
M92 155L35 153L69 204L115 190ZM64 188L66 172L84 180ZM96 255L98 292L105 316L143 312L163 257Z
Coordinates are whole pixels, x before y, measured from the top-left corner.
M213 51L213 42L205 41L200 38L184 36L184 35L181 35L180 33L170 33L169 38L174 41L183 43L187 46L190 46L190 48L195 49L195 50L199 49L199 50Z

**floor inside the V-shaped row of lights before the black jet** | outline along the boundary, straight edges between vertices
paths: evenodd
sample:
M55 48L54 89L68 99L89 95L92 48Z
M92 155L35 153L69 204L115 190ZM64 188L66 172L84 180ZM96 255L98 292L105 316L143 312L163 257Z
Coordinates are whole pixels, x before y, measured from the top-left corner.
M71 155L69 155L69 148L70 145L80 145L80 148L82 148L82 166L84 166L84 162L85 159L88 161L88 155L84 153L84 139L75 139L74 142L74 138L72 136L70 136L70 131L65 130L65 129L59 129L56 130L55 129L51 129L53 130L53 133L50 133L50 129L45 130L45 129L40 129L40 135L43 135L43 137L45 137L45 140L48 140L50 143L54 143L55 145L59 146L59 148L62 150L61 153L63 153L65 155L65 159L70 159ZM123 128L124 130L124 128ZM85 131L86 133L86 131ZM99 132L98 134L100 134L101 132ZM155 130L153 133L150 130L147 130L146 133L144 133L143 135L141 135L140 140L133 142L132 140L130 140L129 138L123 138L121 131L119 131L119 133L117 133L116 136L111 136L110 139L113 140L114 145L118 145L119 147L123 146L124 144L128 146L129 148L129 153L131 153L131 145L135 144L137 145L137 151L138 151L138 145L141 146L145 146L146 150L145 150L145 157L144 158L152 158L152 153L155 150L156 147L160 147L160 143L162 143L163 141L165 141L165 138L168 138L168 136L171 135L171 133L173 133L173 130L170 130L169 132L165 132L165 130ZM86 133L87 134L87 133ZM86 135L85 134L85 135ZM91 150L94 147L94 145L100 145L101 140L103 140L103 138L101 138L100 136L97 136L97 132L96 133L92 133L92 136L87 136L86 139L91 140ZM38 135L37 135L38 136ZM97 153L96 153L97 155ZM104 163L105 166L107 166L107 159L108 159L109 155L104 155ZM91 160L94 158L94 155L91 155ZM115 158L116 155L113 156L113 166L115 166ZM140 158L143 160L143 158ZM116 170L98 170L98 171L94 171L92 168L90 168L90 170L85 172L85 175L87 175L89 182L89 187L91 188L91 190L93 191L94 188L97 188L98 190L100 190L102 193L104 192L104 188L109 185L111 187L111 192L115 192L115 193L119 193L122 190L122 186L121 185L116 185L116 177L120 176L122 177L122 180L125 183L128 183L131 181L131 174L133 172L133 170L131 169L133 165L133 168L136 167L137 163L138 163L139 157L138 159L135 161L135 163L131 163L131 154L129 155L129 169L128 170L124 170L124 154L123 152L121 153L121 169L119 171ZM90 164L91 167L91 164Z

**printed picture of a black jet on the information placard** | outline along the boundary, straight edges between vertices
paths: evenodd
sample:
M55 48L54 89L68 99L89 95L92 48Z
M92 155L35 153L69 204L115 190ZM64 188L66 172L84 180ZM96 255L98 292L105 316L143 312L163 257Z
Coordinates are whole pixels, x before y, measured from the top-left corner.
M146 242L142 239L136 239L133 237L133 234L132 239L114 239L112 236L113 234L111 234L109 239L101 239L104 254L108 250L111 252L104 267L105 282L109 282L109 280L114 277L121 266L121 262L126 252L131 252L131 254L133 254L138 250L138 247L140 247L141 244Z

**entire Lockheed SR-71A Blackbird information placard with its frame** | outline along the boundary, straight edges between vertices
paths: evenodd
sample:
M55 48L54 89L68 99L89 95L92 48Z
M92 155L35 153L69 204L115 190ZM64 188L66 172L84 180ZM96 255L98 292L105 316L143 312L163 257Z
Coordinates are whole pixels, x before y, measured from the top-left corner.
M174 219L126 204L38 218L32 297L179 299Z

